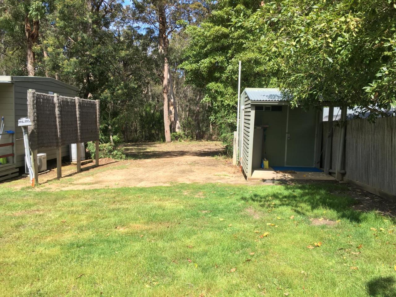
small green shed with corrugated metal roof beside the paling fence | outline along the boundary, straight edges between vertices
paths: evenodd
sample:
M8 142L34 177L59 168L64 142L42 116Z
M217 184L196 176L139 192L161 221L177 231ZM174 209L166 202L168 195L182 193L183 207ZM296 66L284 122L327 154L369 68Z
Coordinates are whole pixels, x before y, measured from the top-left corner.
M277 88L246 88L240 99L238 151L247 179L272 167L320 167L322 137L320 107L291 108Z

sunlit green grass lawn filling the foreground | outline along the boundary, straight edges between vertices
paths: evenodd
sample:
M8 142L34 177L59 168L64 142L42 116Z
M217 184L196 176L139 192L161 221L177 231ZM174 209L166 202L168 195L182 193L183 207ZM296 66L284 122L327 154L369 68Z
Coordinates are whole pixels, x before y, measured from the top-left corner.
M2 188L0 295L396 296L395 222L345 187Z

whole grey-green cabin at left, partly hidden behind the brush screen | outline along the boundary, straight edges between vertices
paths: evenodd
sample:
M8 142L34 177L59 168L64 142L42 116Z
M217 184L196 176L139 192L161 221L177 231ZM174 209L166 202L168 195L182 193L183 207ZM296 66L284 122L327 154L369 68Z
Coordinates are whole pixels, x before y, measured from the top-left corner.
M0 180L17 174L15 168L25 166L25 147L18 120L27 117L28 89L69 97L76 97L78 94L76 87L49 77L0 76L0 120L4 116L4 131L15 131L15 135L3 133L0 139L0 156L8 155L7 164L0 165ZM6 145L9 143L13 145ZM47 160L56 158L55 148L38 152L46 153ZM69 146L62 147L62 156L69 156Z

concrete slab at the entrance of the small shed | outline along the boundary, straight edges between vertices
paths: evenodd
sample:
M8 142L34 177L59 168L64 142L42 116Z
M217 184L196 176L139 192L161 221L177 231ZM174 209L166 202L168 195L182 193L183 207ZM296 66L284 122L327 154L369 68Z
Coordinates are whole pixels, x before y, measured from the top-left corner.
M289 180L289 179L305 179L316 181L335 181L335 178L323 172L280 172L274 171L272 168L268 169L253 169L250 179L265 179L265 180Z

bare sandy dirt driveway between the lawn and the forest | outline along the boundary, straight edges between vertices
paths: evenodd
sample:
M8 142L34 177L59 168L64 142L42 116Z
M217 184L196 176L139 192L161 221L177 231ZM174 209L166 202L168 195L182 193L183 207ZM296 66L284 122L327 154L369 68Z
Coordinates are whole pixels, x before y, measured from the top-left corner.
M63 166L57 180L56 169L39 176L38 189L76 190L104 187L152 187L172 183L251 183L247 182L232 160L222 156L217 141L183 143L134 143L126 145L128 160L100 160L99 167L75 174L73 165ZM27 178L5 183L11 187L29 185Z

